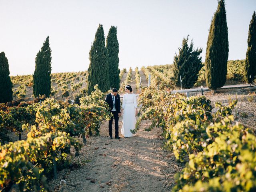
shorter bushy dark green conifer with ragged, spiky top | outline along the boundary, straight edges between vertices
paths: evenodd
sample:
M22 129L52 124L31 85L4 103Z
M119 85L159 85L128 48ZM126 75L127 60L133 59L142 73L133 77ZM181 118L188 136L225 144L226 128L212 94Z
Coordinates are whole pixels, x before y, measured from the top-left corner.
M194 50L193 41L188 45L188 37L183 38L179 54L175 54L173 61L174 76L171 78L171 83L174 86L180 87L180 76L182 78L182 88L192 88L194 86L203 66L201 53L201 48Z

